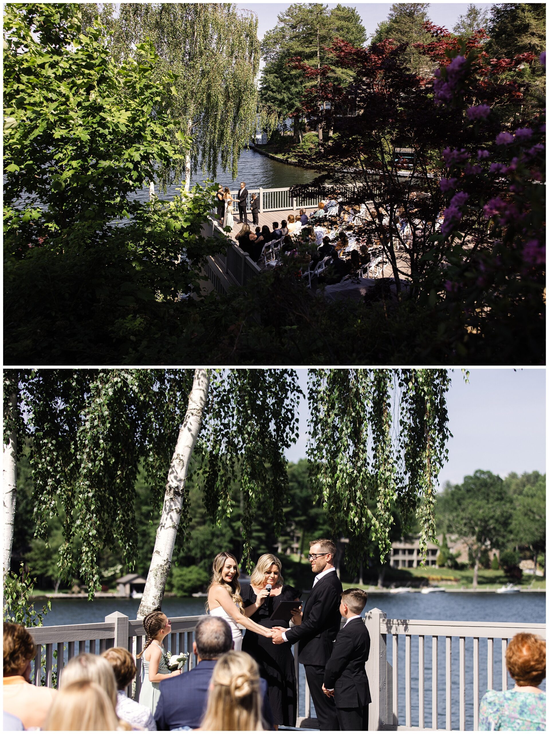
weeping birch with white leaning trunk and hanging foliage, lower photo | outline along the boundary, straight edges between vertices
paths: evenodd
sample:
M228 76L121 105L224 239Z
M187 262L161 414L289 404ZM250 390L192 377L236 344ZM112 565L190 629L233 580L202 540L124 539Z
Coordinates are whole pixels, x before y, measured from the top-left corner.
M446 370L309 370L312 488L334 537L351 540L350 567L372 543L383 560L396 510L404 523L416 515L422 548L435 537L449 384ZM231 515L240 487L248 570L255 509L281 531L301 394L287 369L6 370L4 457L29 447L35 534L46 539L48 519L63 518L60 574L81 578L90 597L100 551L119 551L133 568L144 473L159 514L142 617L161 606L174 549L188 539L191 472L213 523Z

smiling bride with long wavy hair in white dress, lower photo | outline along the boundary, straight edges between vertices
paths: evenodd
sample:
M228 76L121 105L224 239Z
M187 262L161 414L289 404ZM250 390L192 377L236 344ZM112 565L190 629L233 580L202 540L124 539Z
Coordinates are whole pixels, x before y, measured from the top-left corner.
M235 650L242 649L241 627L257 632L263 637L272 637L269 629L252 622L243 613L240 584L238 583L237 559L232 553L218 553L213 559L213 576L207 590L206 611L213 617L222 617L231 628Z

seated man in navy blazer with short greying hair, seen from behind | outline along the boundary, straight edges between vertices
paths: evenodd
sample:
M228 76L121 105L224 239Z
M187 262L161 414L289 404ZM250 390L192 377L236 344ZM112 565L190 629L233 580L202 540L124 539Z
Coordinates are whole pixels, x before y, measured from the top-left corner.
M198 729L206 711L207 694L215 663L232 650L231 628L220 617L202 617L194 632L193 652L198 664L183 675L166 678L160 684L160 698L155 709L158 731ZM262 716L273 729L267 681L261 678Z

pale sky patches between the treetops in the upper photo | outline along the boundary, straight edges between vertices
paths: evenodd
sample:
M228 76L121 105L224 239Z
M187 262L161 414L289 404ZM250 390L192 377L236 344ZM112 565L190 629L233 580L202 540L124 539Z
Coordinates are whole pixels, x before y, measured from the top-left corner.
M261 39L265 32L276 26L277 16L284 12L291 3L279 2L256 2L256 3L237 3L237 7L253 10L257 14L259 21L257 34ZM326 3L328 7L336 7L337 3ZM366 33L371 36L377 28L377 23L387 18L391 9L391 3L378 2L342 2L342 5L355 7L362 18L362 24L366 28ZM476 3L479 7L489 8L494 3ZM433 2L430 4L428 14L433 23L438 26L446 26L452 30L457 18L465 14L468 3L447 3Z

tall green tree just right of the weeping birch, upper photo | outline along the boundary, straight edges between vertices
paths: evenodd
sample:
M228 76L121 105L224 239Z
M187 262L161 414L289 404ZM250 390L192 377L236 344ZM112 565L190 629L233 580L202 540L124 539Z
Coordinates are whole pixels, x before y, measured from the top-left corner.
M261 43L265 68L262 70L259 101L276 110L279 121L292 117L295 142L301 142L301 97L308 84L289 63L293 57L319 68L330 67L328 78L338 84L352 79L352 74L327 53L334 39L342 38L353 46L363 46L366 31L355 8L337 4L331 10L320 3L293 3L278 17L275 28L265 33Z

